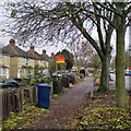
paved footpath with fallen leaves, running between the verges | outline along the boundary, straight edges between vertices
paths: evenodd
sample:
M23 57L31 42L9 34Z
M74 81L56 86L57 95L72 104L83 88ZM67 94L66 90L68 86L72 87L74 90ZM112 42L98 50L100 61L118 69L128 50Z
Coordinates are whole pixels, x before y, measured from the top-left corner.
M70 120L74 117L74 110L80 106L84 96L93 91L93 78L84 79L84 82L74 84L68 88L53 103L50 104L49 110L52 111L51 117L47 117L41 121L33 124L34 129L66 129Z

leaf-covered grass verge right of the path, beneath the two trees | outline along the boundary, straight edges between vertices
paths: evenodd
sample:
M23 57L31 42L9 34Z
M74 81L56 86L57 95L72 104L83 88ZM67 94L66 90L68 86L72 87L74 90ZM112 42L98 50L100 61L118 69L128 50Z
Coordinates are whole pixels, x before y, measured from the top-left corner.
M131 97L131 96L130 96ZM129 130L131 129L131 107L116 107L115 92L95 93L84 99L75 111L72 129L79 130Z

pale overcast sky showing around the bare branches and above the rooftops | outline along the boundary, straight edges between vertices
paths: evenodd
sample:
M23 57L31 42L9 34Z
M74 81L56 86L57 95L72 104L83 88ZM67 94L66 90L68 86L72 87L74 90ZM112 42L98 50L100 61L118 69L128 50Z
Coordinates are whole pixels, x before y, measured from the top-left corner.
M2 4L3 1L7 1L7 0L0 1L0 4ZM1 20L3 20L3 19L4 17L2 16L2 8L0 7L0 46L2 46L2 47L8 45L9 40L12 38L12 37L7 37L7 36L4 37L1 35L1 29L3 28L3 25L4 25L4 23L2 23ZM95 39L97 38L95 29L93 31L92 35ZM16 45L17 44L19 44L19 41L16 41ZM116 45L116 35L114 33L114 35L111 37L111 46L114 47L114 56L115 56L115 51L116 51L115 45ZM129 47L129 28L127 28L127 32L126 32L126 49L128 49L128 47ZM25 51L29 49L29 47L20 47L20 48L24 49ZM66 48L66 45L63 46L63 44L59 44L57 47L56 46L44 46L43 48L35 47L35 50L38 51L39 53L41 53L43 49L46 49L47 53L50 56L51 52L56 53L57 51L62 50L63 48Z

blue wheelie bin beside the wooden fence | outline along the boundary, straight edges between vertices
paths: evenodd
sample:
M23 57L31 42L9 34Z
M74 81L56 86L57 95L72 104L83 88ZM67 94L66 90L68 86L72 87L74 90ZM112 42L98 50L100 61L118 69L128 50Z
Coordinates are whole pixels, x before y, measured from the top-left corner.
M50 88L49 84L36 84L38 87L38 106L48 109L50 104Z

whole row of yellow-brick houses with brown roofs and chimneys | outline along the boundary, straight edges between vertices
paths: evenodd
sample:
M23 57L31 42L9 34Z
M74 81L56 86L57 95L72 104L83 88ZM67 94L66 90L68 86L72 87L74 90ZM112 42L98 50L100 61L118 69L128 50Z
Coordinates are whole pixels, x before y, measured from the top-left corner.
M46 50L43 50L41 55L36 52L33 45L28 51L24 51L15 45L14 39L11 39L9 45L0 48L0 78L2 79L34 75L36 66L48 72L50 58L46 55Z

